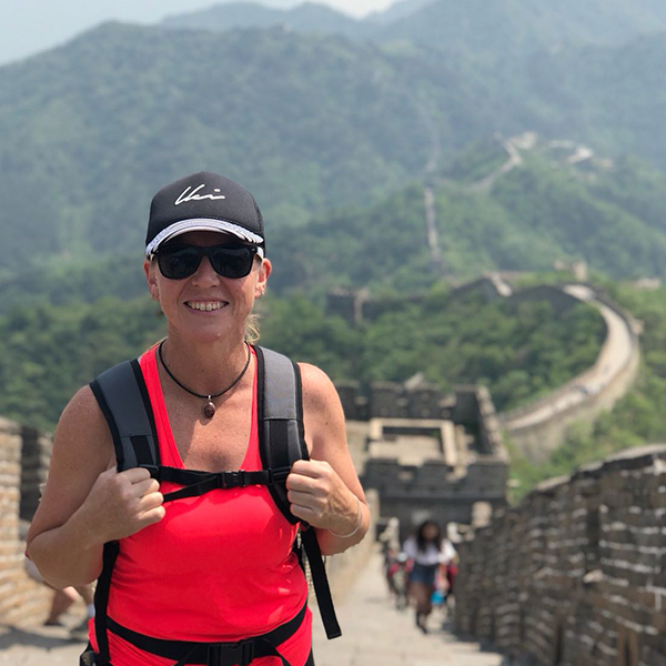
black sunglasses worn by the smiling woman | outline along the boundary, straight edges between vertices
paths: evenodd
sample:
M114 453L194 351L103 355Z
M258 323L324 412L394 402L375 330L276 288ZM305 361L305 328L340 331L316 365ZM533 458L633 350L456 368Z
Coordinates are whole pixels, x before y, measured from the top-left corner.
M184 280L196 273L204 256L222 278L245 278L252 270L256 245L164 245L155 255L160 272L169 280Z

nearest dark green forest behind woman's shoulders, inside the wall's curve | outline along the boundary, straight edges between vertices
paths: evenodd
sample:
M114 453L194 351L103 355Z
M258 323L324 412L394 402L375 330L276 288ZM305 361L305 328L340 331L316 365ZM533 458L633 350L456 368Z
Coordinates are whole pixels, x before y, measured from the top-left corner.
M500 410L583 371L605 335L602 317L586 305L555 316L547 302L515 310L474 295L452 297L442 286L418 302L396 299L357 329L304 297L269 297L263 305L261 344L315 363L335 381L404 382L424 372L443 390L482 382ZM0 414L53 428L80 386L164 335L159 315L147 296L0 315Z

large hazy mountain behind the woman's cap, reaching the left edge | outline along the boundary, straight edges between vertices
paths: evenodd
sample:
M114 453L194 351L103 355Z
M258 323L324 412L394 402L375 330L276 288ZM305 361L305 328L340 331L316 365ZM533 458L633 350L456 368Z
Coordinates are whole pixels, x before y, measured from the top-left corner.
M432 128L448 154L486 131L480 94L453 67L340 38L105 24L0 68L2 269L137 251L152 194L203 168L252 190L270 243L403 188Z

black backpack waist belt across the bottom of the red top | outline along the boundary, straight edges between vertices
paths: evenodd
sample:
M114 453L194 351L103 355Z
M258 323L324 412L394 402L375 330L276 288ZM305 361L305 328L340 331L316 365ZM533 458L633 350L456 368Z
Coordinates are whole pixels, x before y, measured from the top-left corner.
M144 652L165 659L178 659L174 666L205 664L206 666L248 666L258 657L278 657L283 666L289 662L278 652L278 646L293 636L303 624L306 606L289 622L266 634L251 636L236 643L199 643L194 640L170 640L139 634L107 618L110 632Z

